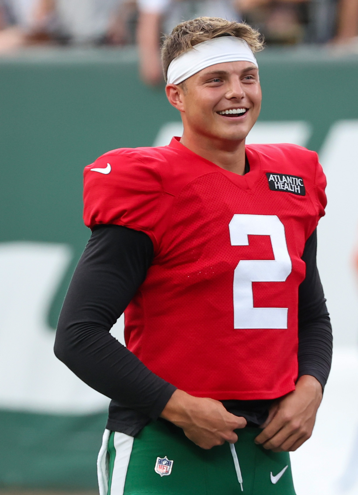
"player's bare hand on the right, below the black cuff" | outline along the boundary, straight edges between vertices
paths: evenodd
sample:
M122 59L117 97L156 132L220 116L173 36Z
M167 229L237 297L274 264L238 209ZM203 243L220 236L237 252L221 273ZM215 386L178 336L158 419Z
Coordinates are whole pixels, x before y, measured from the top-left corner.
M296 390L272 405L255 443L273 452L296 450L311 437L321 400L318 380L310 375L301 376Z

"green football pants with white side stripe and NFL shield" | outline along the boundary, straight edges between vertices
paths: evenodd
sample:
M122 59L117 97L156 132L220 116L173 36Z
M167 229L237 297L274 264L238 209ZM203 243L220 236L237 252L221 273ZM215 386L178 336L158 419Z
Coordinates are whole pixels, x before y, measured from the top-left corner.
M135 437L106 430L98 456L100 495L295 495L289 454L236 430L235 446L204 450L171 423L151 422Z

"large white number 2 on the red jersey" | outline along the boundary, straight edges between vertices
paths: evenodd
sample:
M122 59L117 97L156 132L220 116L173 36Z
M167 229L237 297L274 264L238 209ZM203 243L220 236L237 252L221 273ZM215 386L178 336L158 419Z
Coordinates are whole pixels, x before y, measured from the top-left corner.
M276 215L235 214L231 246L248 246L249 235L270 236L273 260L240 260L234 270L234 328L287 328L288 308L254 307L252 282L285 282L292 270L285 228Z

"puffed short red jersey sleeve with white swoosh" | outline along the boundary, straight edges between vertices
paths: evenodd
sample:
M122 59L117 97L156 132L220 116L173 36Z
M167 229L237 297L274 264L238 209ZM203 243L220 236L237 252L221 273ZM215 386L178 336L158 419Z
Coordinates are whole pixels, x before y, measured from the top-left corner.
M122 225L147 234L158 245L156 225L163 198L153 163L126 150L100 156L84 171L84 222Z

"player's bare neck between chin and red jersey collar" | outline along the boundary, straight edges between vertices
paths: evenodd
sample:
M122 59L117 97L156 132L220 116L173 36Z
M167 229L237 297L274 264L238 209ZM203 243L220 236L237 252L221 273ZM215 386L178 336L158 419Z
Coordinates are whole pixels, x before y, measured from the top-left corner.
M245 139L238 141L219 140L209 136L192 136L190 133L185 133L184 130L180 143L219 167L235 174L244 175Z

